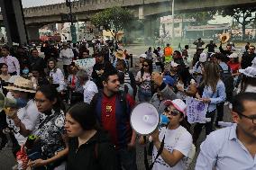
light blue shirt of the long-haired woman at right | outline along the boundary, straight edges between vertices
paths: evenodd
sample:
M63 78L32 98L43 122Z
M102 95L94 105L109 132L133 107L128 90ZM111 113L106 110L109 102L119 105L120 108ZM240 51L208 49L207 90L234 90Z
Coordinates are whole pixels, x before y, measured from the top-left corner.
M218 81L215 93L213 92L211 86L205 86L202 97L209 98L211 100L211 102L209 103L208 112L215 111L216 104L223 103L226 97L223 81Z

